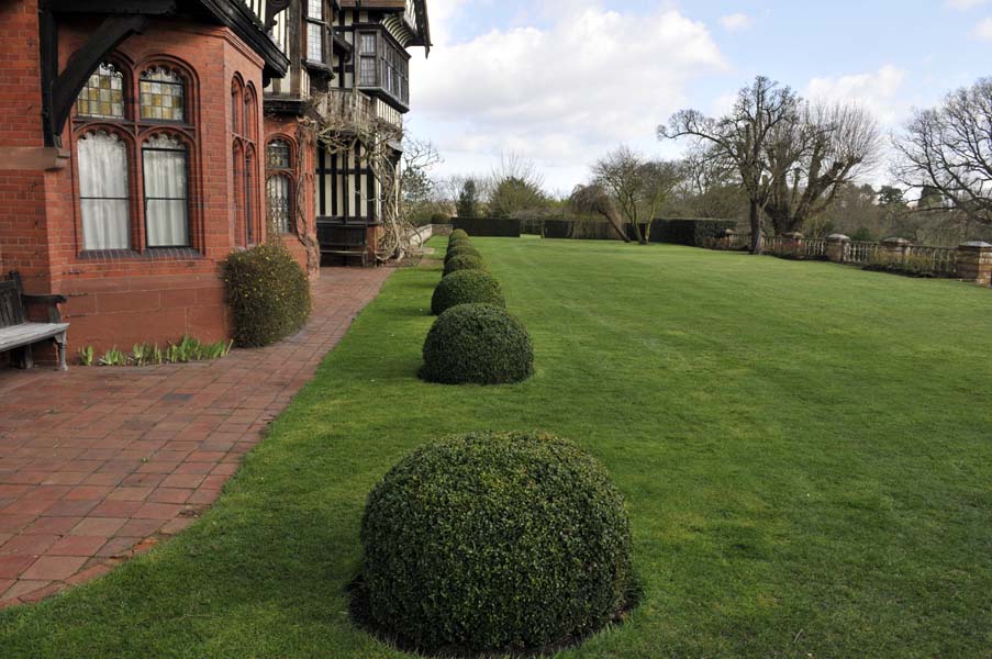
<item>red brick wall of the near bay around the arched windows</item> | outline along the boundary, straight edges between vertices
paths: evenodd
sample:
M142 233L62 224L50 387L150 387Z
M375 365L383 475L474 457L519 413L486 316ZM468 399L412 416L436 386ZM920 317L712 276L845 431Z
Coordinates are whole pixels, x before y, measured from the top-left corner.
M0 156L4 148L41 146L36 0L0 8ZM93 20L59 26L65 66L97 25ZM165 344L183 334L204 340L229 335L220 261L236 247L232 161L231 81L241 76L256 90L253 127L256 168L253 215L256 242L264 239L264 138L261 60L222 27L153 20L118 49L134 64L165 58L189 71L190 113L197 143L190 149L191 236L196 253L133 254L92 258L82 249L75 193L75 135L70 120L63 143L70 153L64 169L0 170L0 268L19 269L25 288L69 297L65 309L70 350L94 345L130 348L138 342ZM131 163L132 178L140 163ZM135 201L140 206L140 201ZM136 222L136 226L143 223Z

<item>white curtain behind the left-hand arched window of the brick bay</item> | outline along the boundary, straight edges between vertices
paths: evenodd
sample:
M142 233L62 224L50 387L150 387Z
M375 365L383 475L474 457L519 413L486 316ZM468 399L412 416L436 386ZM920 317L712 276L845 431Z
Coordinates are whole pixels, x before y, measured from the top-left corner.
M127 148L116 135L87 133L76 144L83 249L131 246Z

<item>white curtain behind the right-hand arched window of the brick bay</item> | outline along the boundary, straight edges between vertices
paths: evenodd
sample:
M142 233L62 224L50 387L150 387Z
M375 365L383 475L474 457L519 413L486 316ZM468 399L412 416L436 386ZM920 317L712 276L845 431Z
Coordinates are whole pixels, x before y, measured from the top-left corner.
M186 149L163 136L142 152L145 170L145 224L148 247L189 245L189 194Z

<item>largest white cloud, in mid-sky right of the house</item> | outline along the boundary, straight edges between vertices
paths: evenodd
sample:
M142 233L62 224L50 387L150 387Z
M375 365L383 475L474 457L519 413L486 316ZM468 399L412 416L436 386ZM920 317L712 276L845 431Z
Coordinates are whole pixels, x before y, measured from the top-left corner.
M570 186L621 142L659 147L655 127L687 103L690 81L727 70L706 26L676 10L620 13L573 0L558 16L438 46L414 64L416 127L445 170L512 150L560 172L550 185Z

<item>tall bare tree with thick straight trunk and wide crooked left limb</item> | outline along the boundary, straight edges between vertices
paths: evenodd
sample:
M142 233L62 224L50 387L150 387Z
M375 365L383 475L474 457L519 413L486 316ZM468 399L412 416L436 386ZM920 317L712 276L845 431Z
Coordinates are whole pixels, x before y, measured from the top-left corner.
M777 172L768 159L771 137L783 124L794 124L799 110L799 98L792 89L759 76L738 92L726 115L709 118L698 110L681 110L667 126L658 126L660 139L696 137L733 164L748 199L753 254L761 254L763 248L763 209L777 183Z

